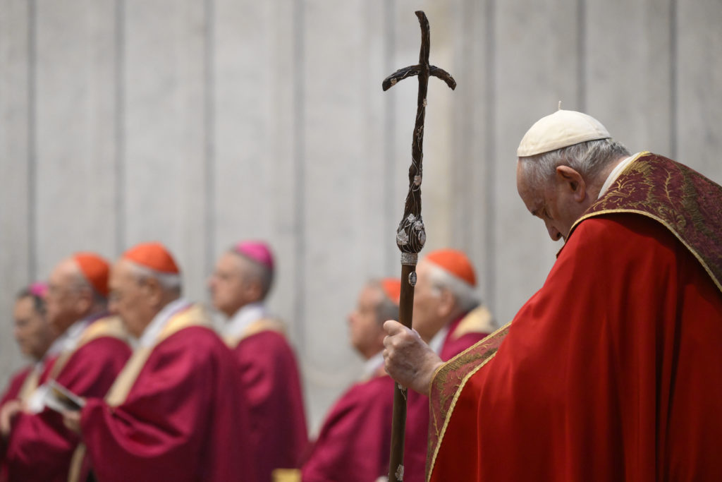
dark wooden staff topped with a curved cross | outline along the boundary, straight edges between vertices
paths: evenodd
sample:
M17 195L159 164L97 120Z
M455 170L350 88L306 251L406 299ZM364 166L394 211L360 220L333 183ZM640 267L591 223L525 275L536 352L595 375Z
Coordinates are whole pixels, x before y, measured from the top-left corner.
M396 85L399 80L416 75L419 77L416 124L412 142L412 164L409 167L409 194L406 195L404 217L396 230L396 246L401 251L401 298L399 300L399 322L411 327L414 309L414 285L416 285L416 263L419 251L424 247L426 231L421 218L421 178L424 158L424 118L426 114L426 92L429 76L438 77L451 87L456 81L451 74L437 66L429 65L429 21L422 11L416 12L421 25L421 51L419 63L404 67L383 80L383 90ZM391 425L391 459L388 464L388 480L401 482L404 479L404 430L406 429L406 388L396 384L393 390L393 422Z

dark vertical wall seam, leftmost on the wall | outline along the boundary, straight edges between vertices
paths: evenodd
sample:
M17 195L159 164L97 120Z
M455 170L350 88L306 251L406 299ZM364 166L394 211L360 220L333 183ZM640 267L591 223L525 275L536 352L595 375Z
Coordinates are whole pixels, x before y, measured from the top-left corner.
M38 12L35 0L28 2L27 24L27 275L29 280L38 277L38 150L37 150L37 25Z

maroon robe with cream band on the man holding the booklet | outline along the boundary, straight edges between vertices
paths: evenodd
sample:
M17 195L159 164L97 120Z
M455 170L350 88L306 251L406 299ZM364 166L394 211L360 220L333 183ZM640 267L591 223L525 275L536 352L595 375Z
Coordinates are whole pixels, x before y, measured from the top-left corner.
M97 480L256 481L237 369L205 318L197 306L175 314L107 401L87 400L80 425Z

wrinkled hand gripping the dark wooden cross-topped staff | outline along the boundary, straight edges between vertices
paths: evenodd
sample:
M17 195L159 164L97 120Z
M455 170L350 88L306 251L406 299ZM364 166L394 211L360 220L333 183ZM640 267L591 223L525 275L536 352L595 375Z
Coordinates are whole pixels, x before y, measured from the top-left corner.
M416 330L388 320L383 324L387 336L383 339L383 359L391 378L422 395L428 395L434 372L443 361Z

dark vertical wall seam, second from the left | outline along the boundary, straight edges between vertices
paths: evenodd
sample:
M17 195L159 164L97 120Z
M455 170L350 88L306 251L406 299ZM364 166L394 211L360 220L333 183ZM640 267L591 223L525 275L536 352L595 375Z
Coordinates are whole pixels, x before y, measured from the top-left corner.
M125 208L125 9L124 0L116 0L116 256L120 256L125 247L126 208Z

